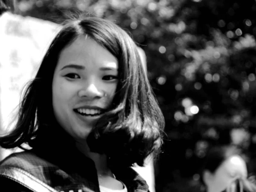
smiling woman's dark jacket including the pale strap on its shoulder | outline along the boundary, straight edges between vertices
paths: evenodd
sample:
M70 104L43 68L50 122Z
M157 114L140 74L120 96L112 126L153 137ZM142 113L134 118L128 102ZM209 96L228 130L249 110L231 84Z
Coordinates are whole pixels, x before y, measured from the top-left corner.
M19 152L0 162L0 188L12 192L100 192L93 160L81 153ZM47 154L47 152L45 153ZM47 159L47 160L46 160ZM58 166L57 166L58 165ZM148 192L148 185L131 167L116 169L128 192Z

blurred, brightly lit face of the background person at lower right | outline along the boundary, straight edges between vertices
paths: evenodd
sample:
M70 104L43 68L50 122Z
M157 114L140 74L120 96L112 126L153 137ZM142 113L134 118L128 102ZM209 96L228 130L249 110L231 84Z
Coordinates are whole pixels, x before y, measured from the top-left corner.
M210 173L206 182L207 188L211 189L208 191L221 192L241 177L247 177L246 163L240 156L234 155L221 163L214 173Z

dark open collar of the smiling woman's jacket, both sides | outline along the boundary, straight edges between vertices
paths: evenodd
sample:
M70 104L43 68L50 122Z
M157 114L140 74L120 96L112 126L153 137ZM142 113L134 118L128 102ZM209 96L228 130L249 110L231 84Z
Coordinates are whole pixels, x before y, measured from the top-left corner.
M59 150L49 149L42 151L34 151L35 154L49 162L57 165L60 169L69 174L79 174L85 178L89 185L97 185L93 190L98 190L99 181L97 177L96 167L93 160L79 152L75 147L70 146ZM85 171L86 170L86 171ZM148 192L146 181L131 167L119 167L112 170L116 179L122 181L127 186L128 192Z

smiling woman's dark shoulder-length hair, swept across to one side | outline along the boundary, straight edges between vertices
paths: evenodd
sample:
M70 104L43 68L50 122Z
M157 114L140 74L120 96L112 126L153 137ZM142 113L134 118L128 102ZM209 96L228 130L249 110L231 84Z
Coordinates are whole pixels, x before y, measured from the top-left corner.
M148 155L160 150L163 115L132 38L115 23L97 17L71 20L58 32L35 79L26 87L15 129L0 138L0 146L50 146L65 135L53 114L52 79L61 51L81 35L95 40L119 61L117 91L111 109L87 138L90 150L105 153L112 163L142 166Z

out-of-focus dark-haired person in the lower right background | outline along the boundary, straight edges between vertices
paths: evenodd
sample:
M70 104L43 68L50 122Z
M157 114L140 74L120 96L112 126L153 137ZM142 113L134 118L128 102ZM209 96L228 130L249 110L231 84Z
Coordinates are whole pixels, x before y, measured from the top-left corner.
M214 146L209 149L201 172L205 192L256 191L247 176L246 163L236 146Z

